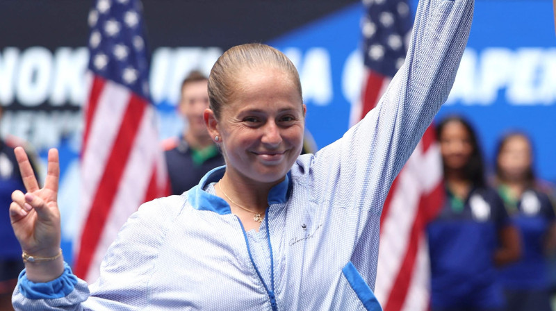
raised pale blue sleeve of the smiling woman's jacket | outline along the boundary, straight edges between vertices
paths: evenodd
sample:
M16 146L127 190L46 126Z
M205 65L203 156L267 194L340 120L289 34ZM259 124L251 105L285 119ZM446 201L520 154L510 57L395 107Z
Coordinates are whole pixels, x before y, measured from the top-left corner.
M308 183L325 205L380 215L391 183L448 98L474 0L421 0L407 58L377 107L314 155Z

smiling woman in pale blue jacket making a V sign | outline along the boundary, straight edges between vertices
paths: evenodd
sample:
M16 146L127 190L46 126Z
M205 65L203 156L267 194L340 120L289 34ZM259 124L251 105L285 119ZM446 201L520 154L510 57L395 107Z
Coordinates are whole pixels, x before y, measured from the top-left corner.
M382 205L448 97L472 15L473 0L421 1L407 59L377 107L315 154L300 155L306 108L292 62L264 44L226 51L204 111L226 165L181 196L142 205L90 287L58 255L52 151L45 187L28 180L10 206L22 248L40 258L26 262L15 308L381 310ZM30 175L22 150L17 157Z

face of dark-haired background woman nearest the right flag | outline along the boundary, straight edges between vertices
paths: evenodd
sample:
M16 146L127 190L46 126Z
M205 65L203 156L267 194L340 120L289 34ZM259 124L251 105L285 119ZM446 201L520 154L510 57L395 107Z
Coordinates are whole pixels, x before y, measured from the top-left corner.
M444 167L463 169L473 153L471 139L465 126L459 121L448 121L439 138Z

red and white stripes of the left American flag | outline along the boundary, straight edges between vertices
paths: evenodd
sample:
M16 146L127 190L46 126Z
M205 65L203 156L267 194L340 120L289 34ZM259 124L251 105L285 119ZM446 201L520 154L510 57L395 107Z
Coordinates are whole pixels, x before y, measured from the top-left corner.
M96 280L108 246L141 203L167 194L154 108L126 87L92 77L81 153L81 232L74 273Z

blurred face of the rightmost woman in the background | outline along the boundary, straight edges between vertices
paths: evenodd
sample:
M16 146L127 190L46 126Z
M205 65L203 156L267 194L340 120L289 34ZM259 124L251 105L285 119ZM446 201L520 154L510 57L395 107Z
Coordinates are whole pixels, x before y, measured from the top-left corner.
M531 146L528 140L516 135L509 137L498 154L498 166L506 179L524 178L531 167Z

